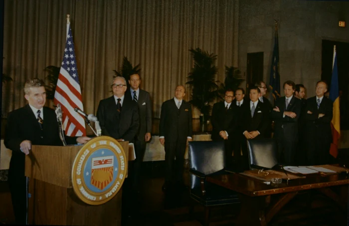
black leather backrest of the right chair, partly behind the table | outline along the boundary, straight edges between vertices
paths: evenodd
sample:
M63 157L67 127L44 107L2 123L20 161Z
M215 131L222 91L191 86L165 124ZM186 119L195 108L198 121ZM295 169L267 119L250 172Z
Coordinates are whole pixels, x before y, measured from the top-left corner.
M271 169L278 164L275 139L247 140L247 147L250 168L257 166Z

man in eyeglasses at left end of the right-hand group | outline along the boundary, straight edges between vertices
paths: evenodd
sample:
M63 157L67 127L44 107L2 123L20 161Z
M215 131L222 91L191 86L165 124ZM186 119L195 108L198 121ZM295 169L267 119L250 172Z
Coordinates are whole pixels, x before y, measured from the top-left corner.
M215 103L212 109L211 123L213 141L223 141L225 145L226 165L233 167L233 140L235 139L237 129L237 115L234 111L232 101L234 100L234 91L228 89L225 91L224 101ZM234 152L234 160L239 162L240 152ZM236 165L236 164L235 164Z

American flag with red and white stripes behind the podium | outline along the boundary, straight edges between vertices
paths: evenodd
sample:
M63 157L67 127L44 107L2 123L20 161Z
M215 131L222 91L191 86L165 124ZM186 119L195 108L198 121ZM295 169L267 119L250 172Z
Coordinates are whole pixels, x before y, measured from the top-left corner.
M74 111L75 107L82 111L84 107L82 104L70 22L67 23L67 40L65 43L64 57L59 71L53 102L55 105L59 103L62 107L63 129L65 134L71 137L86 135L84 118Z

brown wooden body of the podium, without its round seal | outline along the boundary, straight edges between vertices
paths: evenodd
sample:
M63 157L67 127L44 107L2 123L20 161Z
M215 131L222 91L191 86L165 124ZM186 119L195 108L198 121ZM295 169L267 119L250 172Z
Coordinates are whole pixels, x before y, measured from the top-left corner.
M119 142L128 157L128 143ZM109 202L91 206L72 187L72 166L82 146L32 146L25 157L29 225L121 226L122 188Z

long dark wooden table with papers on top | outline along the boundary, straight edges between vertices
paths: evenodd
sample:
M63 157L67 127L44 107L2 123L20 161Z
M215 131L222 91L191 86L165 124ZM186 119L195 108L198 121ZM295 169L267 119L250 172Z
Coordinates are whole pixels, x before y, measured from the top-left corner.
M307 178L283 181L277 185L266 185L262 181L232 173L207 177L207 182L238 192L241 211L237 225L266 226L271 219L299 192L317 189L334 200L343 212L347 211L349 177L343 174L321 176L308 175ZM345 218L343 219L346 220Z

